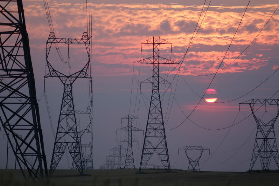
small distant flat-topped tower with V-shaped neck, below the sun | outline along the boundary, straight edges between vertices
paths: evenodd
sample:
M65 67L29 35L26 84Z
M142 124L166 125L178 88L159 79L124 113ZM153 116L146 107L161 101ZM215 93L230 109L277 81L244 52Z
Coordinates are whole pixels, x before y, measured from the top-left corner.
M201 155L203 154L203 151L204 150L208 150L207 148L204 148L202 146L186 146L186 147L183 147L181 149L178 149L178 150L184 150L185 153L186 153L186 156L189 160L189 165L188 165L188 170L193 170L193 171L200 171L200 165L198 163L198 161L200 160L201 158ZM189 154L188 154L188 150L191 150L193 151L193 153L195 154L195 151L200 151L200 155L196 156L195 159L190 158L189 157Z

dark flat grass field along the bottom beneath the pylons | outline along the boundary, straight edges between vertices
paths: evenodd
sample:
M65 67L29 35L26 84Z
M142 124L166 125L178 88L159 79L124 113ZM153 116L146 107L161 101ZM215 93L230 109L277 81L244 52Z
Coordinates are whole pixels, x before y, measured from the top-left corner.
M20 170L0 169L0 186L199 186L199 185L279 185L279 171L256 172L197 172L149 169L139 174L138 169L56 170L46 180L24 180Z

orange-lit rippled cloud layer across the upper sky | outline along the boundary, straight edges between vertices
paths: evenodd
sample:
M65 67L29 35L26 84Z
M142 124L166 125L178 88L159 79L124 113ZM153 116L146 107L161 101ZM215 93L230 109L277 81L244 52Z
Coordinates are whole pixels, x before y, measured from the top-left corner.
M32 2L36 2L35 5ZM47 40L49 28L42 1L26 1L25 3L27 3L24 10L26 19L29 20L27 22L29 35L34 40ZM277 5L268 3L248 7L232 42L231 48L234 50L228 52L221 69L239 56L242 50L250 44L276 7ZM49 8L57 37L79 38L82 32L87 30L85 3L49 1ZM130 68L132 62L140 60L140 43L153 35L161 36L173 44L173 54L176 56L175 60L179 62L187 50L202 6L94 3L92 8L94 61L107 65L129 65L124 68ZM245 8L245 6L210 6L180 69L183 75L216 72ZM204 13L205 11L202 17ZM278 45L278 22L279 15L275 14L251 47ZM32 43L31 46L44 48L45 43ZM147 50L148 47L150 46L142 46L142 56L152 55ZM244 53L232 65L219 73L244 72L268 65L270 59L263 55L268 49L260 47L256 49L255 52L249 51L249 55ZM170 47L166 48L164 53L170 53ZM163 52L161 54L163 55Z

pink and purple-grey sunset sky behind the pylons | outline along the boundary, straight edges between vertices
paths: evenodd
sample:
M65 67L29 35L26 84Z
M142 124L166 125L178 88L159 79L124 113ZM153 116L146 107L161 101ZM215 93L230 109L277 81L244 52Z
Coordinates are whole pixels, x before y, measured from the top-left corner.
M86 31L85 0L48 2L56 37L81 38ZM279 10L269 20L278 7L278 1L251 0L233 41L232 37L248 1L212 0L208 7L209 2L210 0L207 0L205 5L203 0L173 0L171 3L167 0L92 2L94 110L92 123L95 169L104 164L109 149L124 139L124 132L116 134L117 129L127 125L122 123L121 126L122 117L128 114L137 116L140 119L140 125L137 127L145 130L152 87L150 84L142 84L140 96L137 83L152 76L152 66L139 64L133 66L133 62L152 56L151 45L141 46L141 42L153 36L160 36L172 44L161 46L162 57L181 63L179 71L177 65L160 66L162 76L172 82L171 88L165 85L161 85L160 88L161 95L165 92L161 99L171 166L187 169L186 155L183 151L178 155L178 149L183 146L203 146L210 149L210 155L205 152L200 161L200 168L203 171L249 169L256 135L253 117L250 116L231 128L226 127L231 126L234 120L234 123L237 123L251 114L250 108L243 105L240 106L241 112L238 113L239 103L249 99L269 99L279 89L279 70L276 71L279 68ZM50 30L42 0L23 0L23 5L37 97L40 98L44 90L45 43ZM196 37L186 53L200 14L198 26L201 27L197 34L195 32ZM264 27L268 20L268 24ZM232 44L224 58L231 41ZM251 45L248 47L249 44ZM63 57L67 58L67 46L61 45L60 49ZM83 47L74 45L70 45L69 50L71 71L78 71L85 65L86 51ZM185 58L181 61L185 53ZM53 66L59 71L67 72L68 65L59 60L55 51L51 54ZM214 94L217 101L208 103L202 100L196 107L221 62L220 69L232 63L221 71L219 69L209 87L217 91L217 94ZM268 78L273 72L275 73ZM267 81L257 87L265 79ZM257 87L255 90L243 96L255 87ZM86 110L89 105L88 91L87 80L78 79L74 83L74 101L77 110ZM62 83L56 78L47 78L46 92L56 130L62 101ZM239 98L240 96L243 97ZM278 99L279 93L272 98ZM234 99L236 100L230 101ZM54 138L44 99L39 101L39 106L49 167ZM189 117L191 121L187 119L183 122L195 107ZM273 116L275 112L271 107L267 108L267 111L263 118L269 121L268 116ZM263 113L258 112L260 117ZM175 128L178 125L180 126ZM278 129L277 121L275 132ZM143 133L136 134L135 139L139 141L139 145L134 145L135 165L139 167ZM0 141L1 148L5 149L6 139L3 139L3 135ZM126 145L123 144L125 147ZM6 152L1 153L0 157L0 168L5 168ZM153 157L158 159L156 154ZM205 163L208 157L210 158ZM13 156L10 158L10 168L14 167L12 158ZM154 160L150 164L160 162ZM68 168L65 155L61 165ZM258 159L254 169L260 168ZM270 168L276 169L274 160L271 161Z

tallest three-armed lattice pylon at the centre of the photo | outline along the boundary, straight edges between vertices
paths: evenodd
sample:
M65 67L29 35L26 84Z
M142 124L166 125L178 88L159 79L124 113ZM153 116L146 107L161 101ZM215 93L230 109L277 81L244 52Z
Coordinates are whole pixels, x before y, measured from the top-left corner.
M164 165L165 169L171 170L169 163L169 153L167 148L166 133L164 128L164 120L162 113L162 105L160 98L159 85L161 83L170 83L169 81L160 77L160 64L179 64L177 62L160 57L160 45L171 44L166 40L161 40L160 37L152 37L141 44L153 45L153 56L134 62L140 64L152 64L152 77L146 79L141 83L152 84L152 95L149 106L149 113L147 118L144 144L142 148L142 156L140 160L140 172L146 168L151 156L156 151L159 159Z

